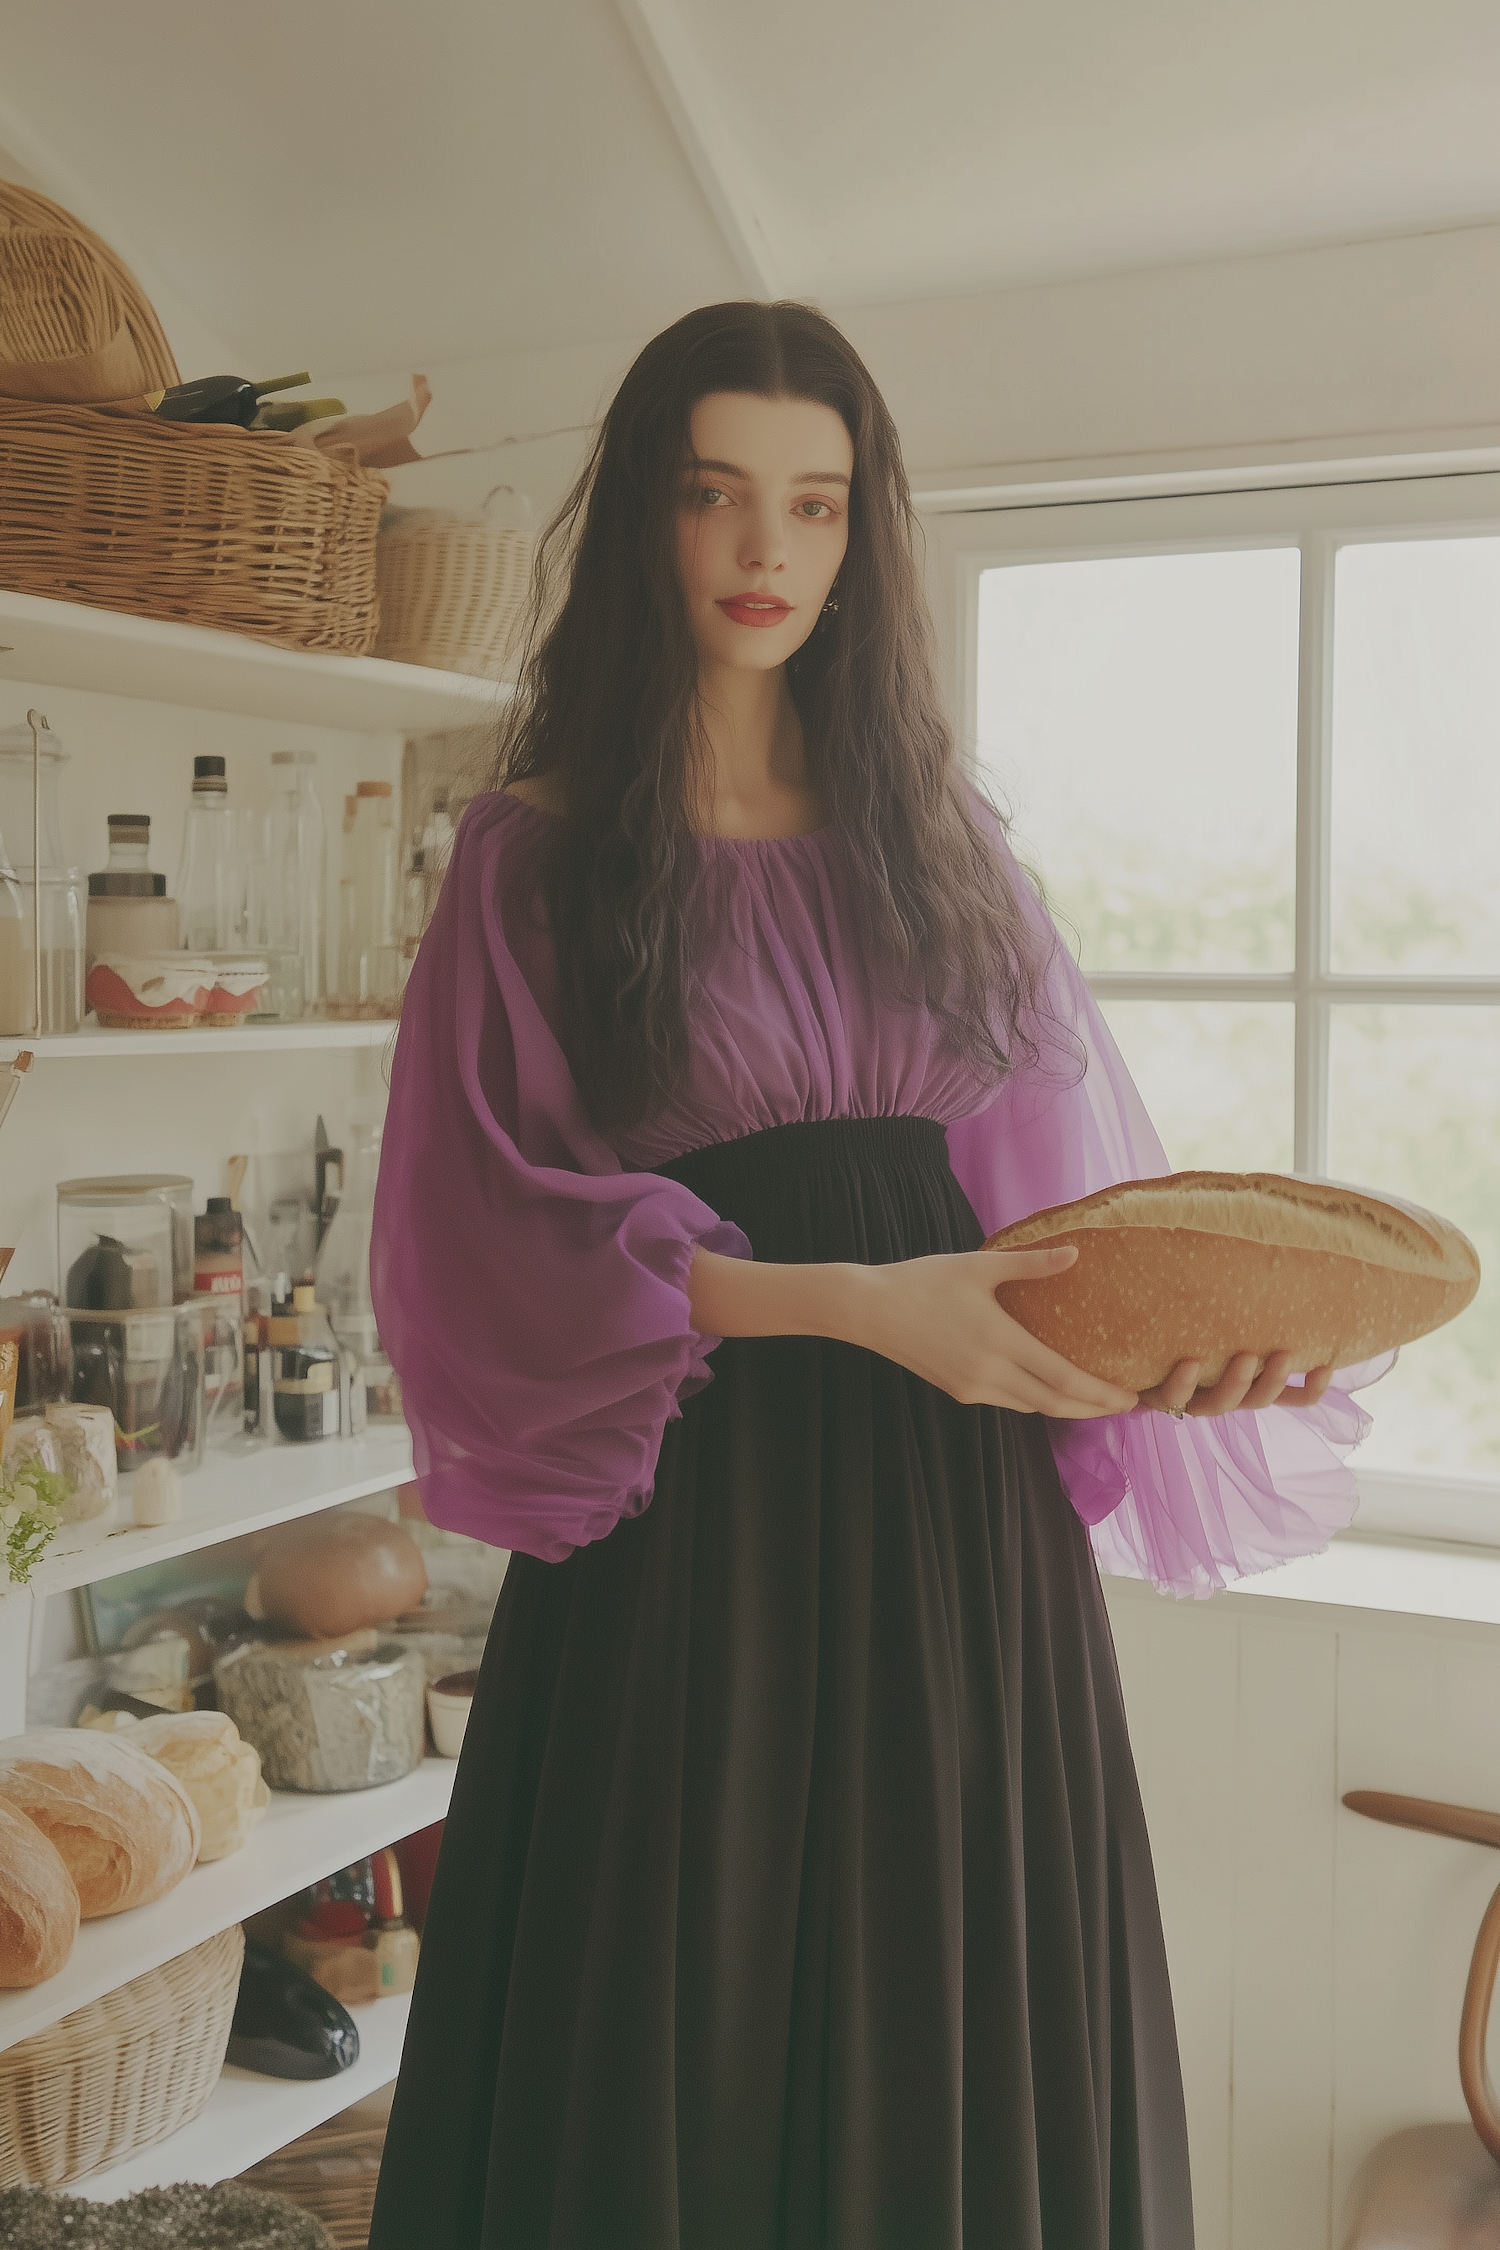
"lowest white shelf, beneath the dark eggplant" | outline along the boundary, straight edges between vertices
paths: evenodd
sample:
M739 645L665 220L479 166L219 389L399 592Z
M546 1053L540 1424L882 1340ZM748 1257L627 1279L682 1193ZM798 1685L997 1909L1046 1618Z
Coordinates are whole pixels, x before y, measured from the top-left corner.
M412 1994L371 2000L349 2012L360 2027L360 2061L335 2079L263 2079L254 2070L225 2066L207 2108L153 2149L137 2149L124 2164L70 2180L65 2194L112 2203L142 2187L175 2180L232 2180L261 2158L286 2149L326 2117L364 2102L389 2086L400 2068L400 2050L412 2014Z

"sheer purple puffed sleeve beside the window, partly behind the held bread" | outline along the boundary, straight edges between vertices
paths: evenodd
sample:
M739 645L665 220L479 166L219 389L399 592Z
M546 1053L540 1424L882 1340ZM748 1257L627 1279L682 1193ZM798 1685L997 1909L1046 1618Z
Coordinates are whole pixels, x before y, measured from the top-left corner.
M990 821L987 821L990 826ZM996 848L1005 853L1003 842ZM1120 1179L1172 1170L1120 1051L1041 900L1005 853L1028 914L1052 945L1039 1060L999 1100L949 1127L949 1152L985 1233ZM1077 1042L1077 1046L1073 1046ZM1073 1508L1104 1570L1210 1595L1325 1548L1358 1505L1345 1454L1370 1429L1352 1390L1390 1357L1343 1368L1318 1406L1176 1422L1163 1413L1048 1422Z

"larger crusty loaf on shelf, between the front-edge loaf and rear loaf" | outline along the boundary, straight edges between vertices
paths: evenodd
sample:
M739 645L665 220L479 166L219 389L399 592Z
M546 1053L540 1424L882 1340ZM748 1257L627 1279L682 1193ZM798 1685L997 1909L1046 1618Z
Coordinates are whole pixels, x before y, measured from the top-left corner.
M34 1726L0 1742L0 1800L47 1836L85 1922L160 1899L198 1858L198 1807L128 1735Z

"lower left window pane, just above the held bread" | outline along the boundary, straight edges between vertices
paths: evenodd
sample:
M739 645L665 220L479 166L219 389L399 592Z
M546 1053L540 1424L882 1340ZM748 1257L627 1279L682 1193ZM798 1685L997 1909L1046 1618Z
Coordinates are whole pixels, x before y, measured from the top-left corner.
M1293 1008L1282 1001L1104 1004L1176 1172L1289 1172Z

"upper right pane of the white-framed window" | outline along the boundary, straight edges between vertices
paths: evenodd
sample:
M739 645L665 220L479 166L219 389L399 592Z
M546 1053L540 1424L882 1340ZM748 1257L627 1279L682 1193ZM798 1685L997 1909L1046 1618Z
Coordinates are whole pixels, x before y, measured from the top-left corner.
M1334 968L1500 972L1500 540L1343 547Z

